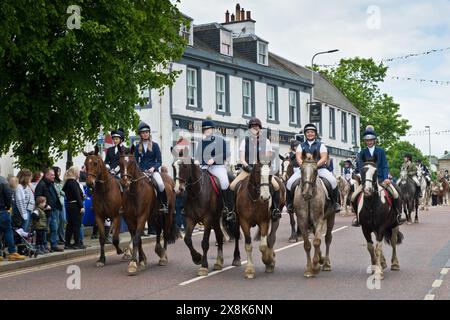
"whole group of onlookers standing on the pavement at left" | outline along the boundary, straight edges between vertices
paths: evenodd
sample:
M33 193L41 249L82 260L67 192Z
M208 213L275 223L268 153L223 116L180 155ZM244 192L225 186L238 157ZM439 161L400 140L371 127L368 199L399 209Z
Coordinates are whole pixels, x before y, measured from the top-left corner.
M81 224L85 194L79 180L75 166L64 177L59 167L0 176L0 261L4 255L10 261L25 259L21 241L41 255L86 248Z

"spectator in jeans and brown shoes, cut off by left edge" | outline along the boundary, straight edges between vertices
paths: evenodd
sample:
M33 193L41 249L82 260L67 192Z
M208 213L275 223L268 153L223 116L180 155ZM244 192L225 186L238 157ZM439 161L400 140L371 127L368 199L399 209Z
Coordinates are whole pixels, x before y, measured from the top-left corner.
M25 256L18 254L14 245L11 215L8 212L12 205L12 193L6 179L0 176L0 233L4 235L6 244L8 245L8 260L18 261L24 260ZM1 260L3 260L3 257L0 258Z

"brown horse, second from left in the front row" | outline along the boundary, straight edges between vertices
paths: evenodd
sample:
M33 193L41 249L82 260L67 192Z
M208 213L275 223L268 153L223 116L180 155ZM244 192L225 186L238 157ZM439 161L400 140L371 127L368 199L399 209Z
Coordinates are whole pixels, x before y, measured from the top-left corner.
M129 275L136 275L138 271L147 266L147 257L142 248L141 236L145 223L148 222L150 225L153 212L158 207L154 187L150 184L148 177L139 169L134 159L134 149L133 145L129 153L122 150L119 160L120 183L124 188L123 216L132 239L132 255L128 264ZM163 257L160 256L160 258Z

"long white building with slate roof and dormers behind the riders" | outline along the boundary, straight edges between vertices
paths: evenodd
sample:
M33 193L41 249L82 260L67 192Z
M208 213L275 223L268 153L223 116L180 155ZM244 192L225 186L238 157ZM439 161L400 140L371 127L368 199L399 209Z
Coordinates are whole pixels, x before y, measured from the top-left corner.
M309 122L311 71L271 53L269 42L256 35L251 13L238 6L231 17L227 11L224 23L192 25L181 30L189 46L171 64L172 70L181 71L174 85L162 95L158 90L142 92L149 103L137 107L160 144L163 164L170 167L173 161L170 148L179 138L174 132L192 132L194 122L208 116L223 134L246 130L248 120L258 117L265 128L279 132L279 152L286 153L289 140ZM359 146L360 114L322 76L316 74L314 80L315 101L322 102L322 141L339 174L339 162ZM229 141L232 163L238 159L240 139ZM56 165L64 168L65 161ZM83 161L82 156L74 158L76 165Z

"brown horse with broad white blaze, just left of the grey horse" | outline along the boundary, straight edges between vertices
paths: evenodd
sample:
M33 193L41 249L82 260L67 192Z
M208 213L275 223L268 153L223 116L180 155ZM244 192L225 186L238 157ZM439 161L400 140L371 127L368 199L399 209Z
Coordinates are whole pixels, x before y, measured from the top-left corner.
M237 186L236 214L242 232L245 237L245 251L247 252L247 266L245 277L253 279L255 267L252 259L251 227L258 226L261 243L259 250L262 252L262 261L266 265L266 272L271 273L275 269L275 234L278 229L279 219L271 219L270 194L270 166L257 163L253 166L250 175ZM280 183L280 188L284 187ZM281 190L280 190L281 191ZM283 197L280 197L284 202ZM280 204L281 205L281 204ZM284 205L284 203L283 203ZM270 232L269 232L270 229Z

